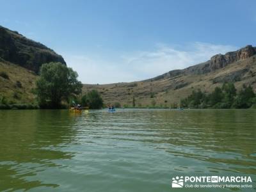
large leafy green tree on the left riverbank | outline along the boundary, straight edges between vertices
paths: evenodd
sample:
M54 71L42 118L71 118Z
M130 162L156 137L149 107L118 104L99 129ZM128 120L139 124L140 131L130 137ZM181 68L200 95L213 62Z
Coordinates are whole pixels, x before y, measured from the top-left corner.
M62 63L45 63L36 81L36 94L41 108L60 108L61 101L81 93L77 72Z

